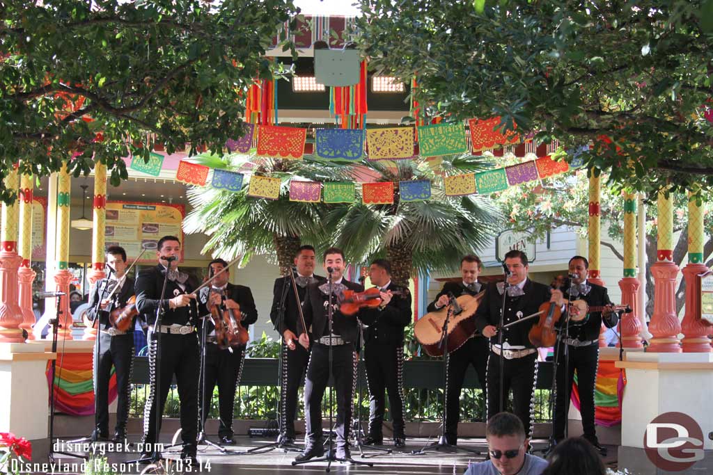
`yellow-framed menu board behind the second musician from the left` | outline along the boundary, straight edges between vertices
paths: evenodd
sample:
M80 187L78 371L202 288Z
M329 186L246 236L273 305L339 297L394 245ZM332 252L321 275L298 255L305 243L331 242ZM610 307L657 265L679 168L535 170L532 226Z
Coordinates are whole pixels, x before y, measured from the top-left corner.
M106 204L106 246L121 246L129 261L146 249L140 263L155 263L158 240L163 236L176 236L181 244L180 262L183 262L183 229L185 216L183 204L158 204L140 202L108 202Z

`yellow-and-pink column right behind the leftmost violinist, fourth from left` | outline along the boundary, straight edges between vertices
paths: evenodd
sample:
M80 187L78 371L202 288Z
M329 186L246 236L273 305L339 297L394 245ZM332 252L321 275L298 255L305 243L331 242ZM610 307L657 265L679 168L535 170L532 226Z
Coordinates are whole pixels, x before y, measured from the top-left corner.
M104 225L106 221L106 165L94 165L94 226L91 234L91 271L87 276L92 285L106 277L104 272ZM83 340L96 340L96 327L84 318Z

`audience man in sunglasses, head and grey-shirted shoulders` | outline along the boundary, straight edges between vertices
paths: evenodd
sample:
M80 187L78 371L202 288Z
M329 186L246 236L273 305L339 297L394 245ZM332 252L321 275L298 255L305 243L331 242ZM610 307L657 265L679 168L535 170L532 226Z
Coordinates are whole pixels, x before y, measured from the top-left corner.
M489 460L469 464L466 475L540 475L545 459L527 453L523 422L510 412L498 412L486 427Z

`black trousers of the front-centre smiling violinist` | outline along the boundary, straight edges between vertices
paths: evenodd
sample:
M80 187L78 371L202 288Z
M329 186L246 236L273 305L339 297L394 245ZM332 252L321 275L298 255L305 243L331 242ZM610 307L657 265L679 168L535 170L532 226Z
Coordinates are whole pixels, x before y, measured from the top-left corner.
M337 447L347 447L349 428L352 425L354 390L356 387L356 364L354 345L332 347L332 377L337 392ZM305 447L322 443L322 397L329 382L329 346L314 343L307 364L304 381L304 436Z

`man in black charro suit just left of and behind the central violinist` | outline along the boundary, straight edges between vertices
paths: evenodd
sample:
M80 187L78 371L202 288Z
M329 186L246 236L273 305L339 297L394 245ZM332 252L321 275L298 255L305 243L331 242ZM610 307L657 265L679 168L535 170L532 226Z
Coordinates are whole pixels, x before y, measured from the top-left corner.
M298 343L299 335L309 330L302 328L302 321L299 318L299 306L302 306L304 296L307 295L309 283L324 283L327 281L322 276L314 275L315 260L314 247L304 245L297 249L297 254L294 256L294 265L297 266L297 274L294 276L297 297L294 296L292 279L289 276L276 278L275 287L272 290L270 320L272 320L272 324L275 325L279 334L282 335L282 374L280 375L279 387L279 400L282 409L279 412L279 427L281 431L279 442L282 444L292 444L294 442L297 392L299 392L299 382L307 370L307 362L309 361L309 345L305 348ZM284 308L280 308L283 292L286 292ZM284 318L279 321L282 310L284 310Z

